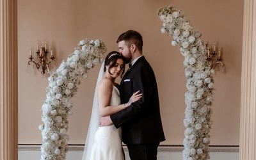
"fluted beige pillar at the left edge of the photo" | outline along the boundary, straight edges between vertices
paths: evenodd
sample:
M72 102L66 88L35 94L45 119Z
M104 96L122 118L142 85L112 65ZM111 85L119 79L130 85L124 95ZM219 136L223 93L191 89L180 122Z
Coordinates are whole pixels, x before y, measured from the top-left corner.
M0 1L0 160L18 159L17 0Z

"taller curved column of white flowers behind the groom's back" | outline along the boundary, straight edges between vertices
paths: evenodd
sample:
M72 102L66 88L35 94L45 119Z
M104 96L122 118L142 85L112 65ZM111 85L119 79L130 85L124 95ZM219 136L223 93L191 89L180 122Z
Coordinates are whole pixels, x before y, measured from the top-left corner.
M206 60L204 42L201 34L193 31L193 26L184 18L184 13L174 6L159 8L159 19L163 22L161 33L173 37L172 45L179 45L184 56L183 62L187 79L188 92L185 93L186 111L183 141L184 160L210 159L209 143L212 114L212 79L211 63Z

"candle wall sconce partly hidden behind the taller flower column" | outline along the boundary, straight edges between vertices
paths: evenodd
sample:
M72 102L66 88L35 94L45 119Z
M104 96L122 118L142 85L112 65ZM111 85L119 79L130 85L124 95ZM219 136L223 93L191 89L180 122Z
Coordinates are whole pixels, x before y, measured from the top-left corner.
M215 69L217 65L221 65L221 67L225 67L225 64L222 61L221 58L221 48L218 48L218 53L216 51L217 45L216 42L214 42L213 47L211 48L211 45L205 43L205 49L207 54L207 61L211 61L212 65L211 68Z

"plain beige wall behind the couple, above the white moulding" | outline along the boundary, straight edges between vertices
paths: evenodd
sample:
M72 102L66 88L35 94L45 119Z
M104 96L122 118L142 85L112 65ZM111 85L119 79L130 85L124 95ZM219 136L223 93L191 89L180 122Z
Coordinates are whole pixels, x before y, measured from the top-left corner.
M212 115L211 145L239 145L239 106L241 86L241 51L243 1L241 0L19 0L19 143L42 143L38 125L45 99L47 77L28 66L29 46L45 41L56 49L56 62L74 51L83 38L102 38L108 52L117 50L116 38L127 29L140 31L143 52L154 68L159 87L161 115L166 141L181 145L184 139L184 93L186 81L179 48L160 32L158 8L174 4L186 13L195 29L209 42L223 47L227 73L214 76L216 93ZM57 66L58 67L58 66ZM56 68L57 68L56 67ZM90 71L72 99L69 143L83 144L92 108L92 97L99 66Z

